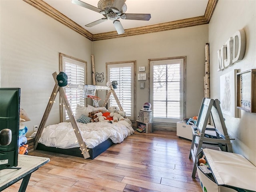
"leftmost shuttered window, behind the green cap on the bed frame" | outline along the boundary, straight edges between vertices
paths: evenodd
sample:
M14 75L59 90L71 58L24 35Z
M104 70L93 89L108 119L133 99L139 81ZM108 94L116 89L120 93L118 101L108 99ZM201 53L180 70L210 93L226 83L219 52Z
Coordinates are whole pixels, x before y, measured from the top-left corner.
M70 86L72 88L69 88L69 86L65 87L66 96L74 115L76 112L77 104L85 106L83 85L86 84L86 64L87 62L85 61L60 53L60 71L63 71L67 74L68 85L77 85ZM60 107L60 116L61 122L69 119L63 104Z

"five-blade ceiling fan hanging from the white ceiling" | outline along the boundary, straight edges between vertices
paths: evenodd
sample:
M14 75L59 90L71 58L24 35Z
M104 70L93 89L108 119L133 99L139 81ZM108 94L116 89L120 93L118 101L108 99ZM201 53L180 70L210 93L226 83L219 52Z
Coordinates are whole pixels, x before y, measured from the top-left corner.
M124 33L124 28L121 22L118 20L119 18L145 21L148 21L151 18L150 14L125 13L127 10L125 2L126 0L100 0L98 2L98 7L95 7L80 0L72 0L72 3L96 11L104 16L104 18L85 25L86 27L95 26L109 19L113 21L118 34Z

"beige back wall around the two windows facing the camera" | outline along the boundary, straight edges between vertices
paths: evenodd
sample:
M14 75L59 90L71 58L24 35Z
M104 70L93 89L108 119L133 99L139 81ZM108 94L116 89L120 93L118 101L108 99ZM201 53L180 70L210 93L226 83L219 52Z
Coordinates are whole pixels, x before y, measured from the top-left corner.
M96 72L106 74L106 62L136 60L136 73L146 67L148 59L187 56L186 65L186 117L198 115L204 97L205 44L208 43L208 25L194 26L164 32L115 38L92 42ZM106 76L105 76L106 80ZM139 110L148 102L148 80L140 89L136 80L136 103ZM106 85L106 82L102 84Z

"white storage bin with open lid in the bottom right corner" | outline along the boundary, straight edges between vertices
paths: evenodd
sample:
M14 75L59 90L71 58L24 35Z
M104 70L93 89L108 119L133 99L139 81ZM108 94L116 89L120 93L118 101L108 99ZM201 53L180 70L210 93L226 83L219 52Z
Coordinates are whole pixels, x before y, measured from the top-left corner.
M242 155L202 149L197 158L202 158L203 154L212 172L203 172L197 165L203 192L256 191L256 167Z

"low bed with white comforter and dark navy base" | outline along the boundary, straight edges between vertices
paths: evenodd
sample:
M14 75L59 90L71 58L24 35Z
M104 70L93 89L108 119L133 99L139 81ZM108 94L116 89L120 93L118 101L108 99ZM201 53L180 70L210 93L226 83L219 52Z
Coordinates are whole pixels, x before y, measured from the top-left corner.
M134 133L132 126L125 120L114 123L78 122L78 126L89 150L90 159L94 159L112 144L121 143ZM61 122L44 128L38 140L37 150L83 157L70 122Z

